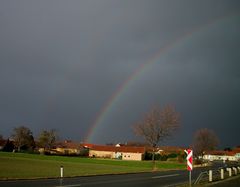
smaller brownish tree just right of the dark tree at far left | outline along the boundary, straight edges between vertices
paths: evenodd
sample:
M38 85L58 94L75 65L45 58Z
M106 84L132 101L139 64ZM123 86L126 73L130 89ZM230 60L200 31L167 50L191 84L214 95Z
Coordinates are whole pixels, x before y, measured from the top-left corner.
M56 139L57 139L56 130L54 129L51 129L50 131L43 130L39 135L38 144L44 149L51 149L56 143Z

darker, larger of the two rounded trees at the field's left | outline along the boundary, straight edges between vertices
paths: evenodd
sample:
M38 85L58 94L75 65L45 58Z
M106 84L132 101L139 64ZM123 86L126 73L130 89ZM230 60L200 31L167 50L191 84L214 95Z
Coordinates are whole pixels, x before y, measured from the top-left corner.
M27 148L34 147L34 138L29 128L20 126L14 128L13 131L14 133L12 135L12 138L14 140L14 145L17 147L18 151L20 151L23 146L26 146Z

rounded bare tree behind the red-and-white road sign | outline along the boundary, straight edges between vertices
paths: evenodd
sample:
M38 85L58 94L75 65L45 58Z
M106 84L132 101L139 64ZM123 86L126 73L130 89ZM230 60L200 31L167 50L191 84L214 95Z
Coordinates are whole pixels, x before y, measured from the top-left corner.
M205 151L216 149L219 139L214 131L207 128L196 131L193 138L193 150L196 156L203 156Z

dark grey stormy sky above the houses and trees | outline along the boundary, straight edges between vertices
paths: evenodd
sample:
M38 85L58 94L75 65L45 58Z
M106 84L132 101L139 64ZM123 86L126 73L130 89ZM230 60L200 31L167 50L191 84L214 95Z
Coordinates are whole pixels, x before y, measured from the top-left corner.
M181 128L164 144L199 128L240 144L238 0L2 0L0 26L4 137L138 141L132 125L172 104Z

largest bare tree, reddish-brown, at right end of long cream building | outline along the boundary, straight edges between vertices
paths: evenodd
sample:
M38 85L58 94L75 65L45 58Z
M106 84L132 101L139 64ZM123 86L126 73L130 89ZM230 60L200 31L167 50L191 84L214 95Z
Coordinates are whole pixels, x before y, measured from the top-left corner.
M170 137L179 127L179 118L179 113L172 106L166 106L163 109L153 108L146 114L143 121L134 125L135 134L142 136L153 148L153 161L156 146Z

